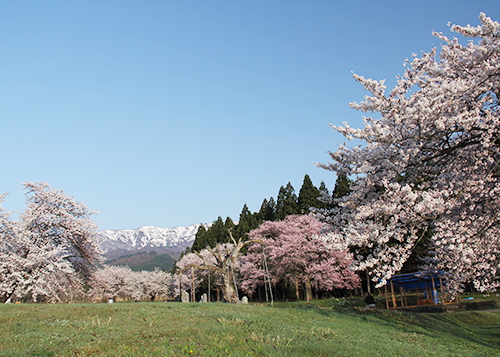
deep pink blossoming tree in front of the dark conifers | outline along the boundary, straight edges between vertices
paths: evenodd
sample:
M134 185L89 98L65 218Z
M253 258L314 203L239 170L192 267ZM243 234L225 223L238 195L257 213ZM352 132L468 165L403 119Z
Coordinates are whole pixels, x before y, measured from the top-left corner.
M282 221L264 222L252 230L249 237L262 243L249 246L240 269L243 289L251 294L257 286L264 285L264 259L268 260L270 281L293 284L297 299L302 285L308 301L312 299L313 287L324 291L358 287L359 278L349 267L351 255L318 239L322 226L311 216L292 215Z

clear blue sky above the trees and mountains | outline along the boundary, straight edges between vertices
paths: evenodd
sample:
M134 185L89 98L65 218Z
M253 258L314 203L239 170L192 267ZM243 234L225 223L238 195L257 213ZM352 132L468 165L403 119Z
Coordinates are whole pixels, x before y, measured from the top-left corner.
M100 229L257 211L304 175L331 190L329 128L361 125L351 71L387 79L433 30L500 1L0 1L0 192L47 181Z

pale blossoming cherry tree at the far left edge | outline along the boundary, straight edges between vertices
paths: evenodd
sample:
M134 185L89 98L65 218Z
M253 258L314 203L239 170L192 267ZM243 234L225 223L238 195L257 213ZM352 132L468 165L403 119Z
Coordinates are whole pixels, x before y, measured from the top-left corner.
M25 183L27 208L19 222L0 212L0 296L34 301L71 298L100 262L92 213L44 182Z

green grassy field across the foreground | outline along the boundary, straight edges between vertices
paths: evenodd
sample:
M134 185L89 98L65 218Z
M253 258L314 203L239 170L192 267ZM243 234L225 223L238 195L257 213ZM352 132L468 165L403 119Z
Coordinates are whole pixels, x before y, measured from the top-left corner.
M500 356L500 312L351 305L10 304L0 306L0 355Z

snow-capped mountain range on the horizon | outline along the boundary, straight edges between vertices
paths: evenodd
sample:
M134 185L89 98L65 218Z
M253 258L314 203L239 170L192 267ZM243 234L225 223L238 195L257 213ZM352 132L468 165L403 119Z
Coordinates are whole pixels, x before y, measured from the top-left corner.
M145 226L137 229L103 230L98 232L98 239L106 255L113 251L140 249L175 254L193 245L199 227L200 224L175 228Z

